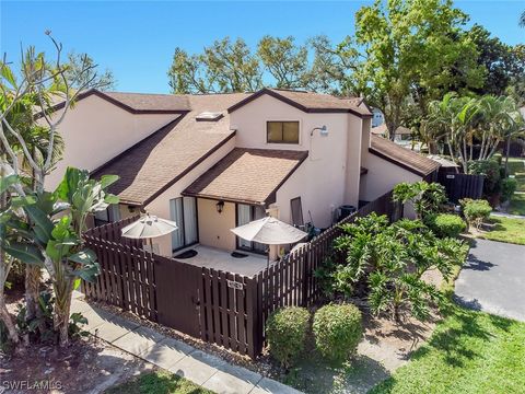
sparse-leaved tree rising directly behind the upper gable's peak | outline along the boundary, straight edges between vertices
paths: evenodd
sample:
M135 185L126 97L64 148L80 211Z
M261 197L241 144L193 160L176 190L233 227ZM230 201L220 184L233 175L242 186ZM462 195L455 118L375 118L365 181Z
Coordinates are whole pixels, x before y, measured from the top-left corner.
M308 84L308 50L304 45L295 45L292 36L264 36L257 55L276 80L276 88L298 89Z

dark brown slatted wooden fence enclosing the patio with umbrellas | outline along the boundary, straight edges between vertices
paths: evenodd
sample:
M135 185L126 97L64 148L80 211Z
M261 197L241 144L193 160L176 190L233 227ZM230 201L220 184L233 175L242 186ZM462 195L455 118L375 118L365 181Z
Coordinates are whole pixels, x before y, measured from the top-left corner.
M105 224L84 236L98 257L101 273L95 282L84 281L82 289L90 299L255 358L262 350L271 312L318 300L315 270L341 234L339 225L372 211L393 221L401 215L392 202L392 192L387 193L254 277L144 252L141 244L120 236L122 227L137 218Z

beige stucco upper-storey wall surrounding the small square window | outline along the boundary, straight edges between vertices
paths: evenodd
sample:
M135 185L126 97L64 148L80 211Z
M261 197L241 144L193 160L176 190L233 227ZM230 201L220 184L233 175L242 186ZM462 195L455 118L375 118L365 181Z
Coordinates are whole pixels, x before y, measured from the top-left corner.
M299 120L300 143L267 143L266 121ZM327 137L315 127L326 126ZM279 218L290 221L290 199L301 197L303 217L312 212L316 227L331 223L332 210L359 201L361 119L348 113L304 113L269 95L262 95L231 114L237 130L236 146L258 149L308 151L308 158L281 186L276 196ZM347 148L351 153L347 157ZM346 187L348 183L348 187Z

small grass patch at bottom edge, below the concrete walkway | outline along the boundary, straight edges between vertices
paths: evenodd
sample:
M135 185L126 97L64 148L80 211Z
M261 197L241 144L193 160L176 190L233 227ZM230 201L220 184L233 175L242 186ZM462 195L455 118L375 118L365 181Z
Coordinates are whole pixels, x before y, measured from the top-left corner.
M155 371L141 374L121 385L112 387L106 394L213 394L176 374Z

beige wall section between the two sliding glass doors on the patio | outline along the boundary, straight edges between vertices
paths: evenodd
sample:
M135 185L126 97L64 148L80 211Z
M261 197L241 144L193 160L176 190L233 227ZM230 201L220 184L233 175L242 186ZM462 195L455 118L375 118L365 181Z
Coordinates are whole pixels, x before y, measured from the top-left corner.
M235 227L235 204L224 202L221 213L217 211L217 200L198 198L199 243L201 245L235 250L235 235L230 231Z

